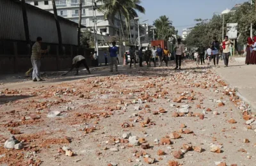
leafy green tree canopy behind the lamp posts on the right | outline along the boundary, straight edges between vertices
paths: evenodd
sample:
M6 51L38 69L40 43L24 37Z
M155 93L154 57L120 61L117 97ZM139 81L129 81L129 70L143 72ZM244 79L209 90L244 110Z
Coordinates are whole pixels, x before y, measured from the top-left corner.
M238 43L245 43L250 36L250 23L253 23L253 34L256 34L256 12L255 7L249 3L239 6L236 11L224 15L224 36L227 33L227 23L237 23ZM191 33L186 38L188 46L208 46L212 38L222 40L223 15L213 15L210 20L195 19L196 26L191 28Z

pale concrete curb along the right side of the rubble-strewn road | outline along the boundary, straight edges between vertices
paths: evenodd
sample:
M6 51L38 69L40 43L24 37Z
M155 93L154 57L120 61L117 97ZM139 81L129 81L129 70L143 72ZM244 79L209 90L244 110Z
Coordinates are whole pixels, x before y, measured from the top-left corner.
M220 72L214 70L220 77L222 80L224 80L228 86L232 89L235 89L236 90L236 95L239 96L239 98L241 98L241 100L243 100L245 103L247 103L248 105L250 105L250 109L251 109L251 112L253 114L256 114L256 105L254 105L252 102L250 102L250 100L248 100L245 96L243 96L240 92L239 92L239 88L235 87L235 86L232 86L232 84L230 84L226 79L224 79L223 75L221 75ZM243 117L243 113L241 111L239 111L239 114Z

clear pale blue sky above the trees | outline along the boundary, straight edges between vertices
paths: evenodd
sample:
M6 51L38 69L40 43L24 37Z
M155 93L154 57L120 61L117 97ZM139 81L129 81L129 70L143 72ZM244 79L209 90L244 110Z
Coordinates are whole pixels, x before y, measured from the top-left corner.
M161 15L166 15L181 35L182 29L195 26L195 19L211 19L214 12L221 13L244 2L246 0L141 0L146 13L139 15L141 22L148 20L145 23L150 25Z

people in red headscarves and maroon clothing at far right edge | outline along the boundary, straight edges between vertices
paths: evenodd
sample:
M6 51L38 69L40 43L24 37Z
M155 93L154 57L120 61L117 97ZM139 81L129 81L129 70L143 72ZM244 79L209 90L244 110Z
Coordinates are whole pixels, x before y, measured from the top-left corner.
M256 36L247 38L245 64L256 64Z

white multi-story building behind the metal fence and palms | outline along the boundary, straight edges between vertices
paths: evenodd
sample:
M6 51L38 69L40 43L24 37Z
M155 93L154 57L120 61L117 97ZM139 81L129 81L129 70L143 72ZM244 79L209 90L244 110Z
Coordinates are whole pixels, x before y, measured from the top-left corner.
M37 6L53 13L52 10L52 1L48 0L26 0L26 3ZM64 17L65 19L72 20L78 23L79 20L79 0L56 0L56 8L58 15ZM102 4L97 3L97 6ZM108 36L120 36L120 17L116 16L115 20L109 21L105 20L104 12L96 10L96 19L97 19L97 34L98 40L108 40ZM124 18L123 18L124 20ZM92 0L82 0L82 21L81 24L86 26L87 29L93 32L94 22L93 22L93 5ZM135 43L136 38L138 38L138 24L136 21L131 22L131 36L132 41ZM125 23L124 23L125 26ZM142 26L141 26L142 27ZM83 30L83 29L82 29ZM125 30L125 29L124 29ZM145 31L145 28L141 31ZM142 34L142 32L141 32Z

